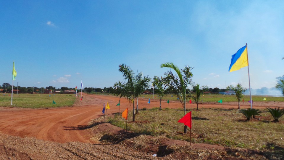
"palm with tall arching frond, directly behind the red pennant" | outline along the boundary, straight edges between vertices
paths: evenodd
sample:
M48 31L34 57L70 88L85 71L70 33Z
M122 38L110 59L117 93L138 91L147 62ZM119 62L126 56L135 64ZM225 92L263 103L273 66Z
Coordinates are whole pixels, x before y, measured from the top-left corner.
M185 100L187 98L186 88L188 84L192 83L191 77L193 76L193 74L191 73L191 70L193 68L185 66L180 71L178 66L173 64L172 62L161 64L161 68L163 67L171 68L177 73L178 77L176 77L172 73L172 71L167 71L166 73L164 73L164 75L166 76L165 80L168 82L167 85L169 87L169 90L171 90L172 92L174 92L175 95L177 95L178 99L180 100L180 103L183 105L185 115ZM186 131L187 126L184 126L183 132L186 133Z

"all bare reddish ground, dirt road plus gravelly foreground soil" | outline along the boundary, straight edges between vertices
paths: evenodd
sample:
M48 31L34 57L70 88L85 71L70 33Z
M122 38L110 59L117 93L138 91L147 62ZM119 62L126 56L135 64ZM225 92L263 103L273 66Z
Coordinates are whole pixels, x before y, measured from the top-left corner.
M83 95L72 107L25 109L0 108L0 159L267 159L265 153L217 145L191 144L166 137L126 132L103 121L106 113L122 112L132 105L126 99ZM159 100L139 99L139 108L159 106ZM283 107L284 102L254 102L254 108ZM167 108L168 103L162 102ZM187 108L196 104L187 104ZM241 108L249 108L247 102ZM182 108L171 102L169 108ZM199 108L238 108L237 102L201 103ZM147 123L147 122L141 122ZM146 145L145 145L146 144ZM156 157L152 157L157 154Z

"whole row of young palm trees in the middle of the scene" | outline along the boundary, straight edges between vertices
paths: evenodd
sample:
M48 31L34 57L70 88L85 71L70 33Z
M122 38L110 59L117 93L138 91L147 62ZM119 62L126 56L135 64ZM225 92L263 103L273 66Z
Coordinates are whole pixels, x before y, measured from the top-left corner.
M203 90L208 88L207 86L199 87L199 84L194 84L192 82L192 72L193 68L185 66L183 69L179 69L177 65L169 62L163 63L161 68L170 68L175 71L175 74L172 71L167 71L164 73L164 77L154 76L152 86L156 88L156 92L160 97L160 110L161 110L161 100L162 97L168 92L171 91L177 97L180 103L183 106L184 114L185 113L185 102L189 98L192 98L197 104L203 94ZM143 76L143 73L135 73L133 70L126 64L119 65L119 71L122 73L125 81L118 81L114 84L113 94L126 98L129 103L133 104L133 121L135 121L135 100L136 100L136 114L138 113L138 96L149 86L152 79L149 76ZM190 92L186 92L188 85L192 85L196 90L195 95L191 95ZM184 133L187 131L187 126L184 127Z

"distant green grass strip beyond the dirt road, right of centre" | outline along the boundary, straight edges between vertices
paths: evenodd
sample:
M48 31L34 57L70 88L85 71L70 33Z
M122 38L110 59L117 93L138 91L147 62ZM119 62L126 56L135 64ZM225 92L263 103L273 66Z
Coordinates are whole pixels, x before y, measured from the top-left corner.
M139 98L153 98L153 95L140 95ZM266 98L266 100L264 100ZM160 99L159 95L154 95L154 99ZM223 102L238 102L235 95L219 95L219 94L211 94L204 95L201 97L203 102L218 102L222 99ZM201 102L200 99L200 102ZM166 95L162 98L162 100L177 100L176 95ZM244 101L247 102L250 100L249 95L245 95ZM271 97L271 96L252 96L253 101L275 101L275 102L284 102L284 97Z

